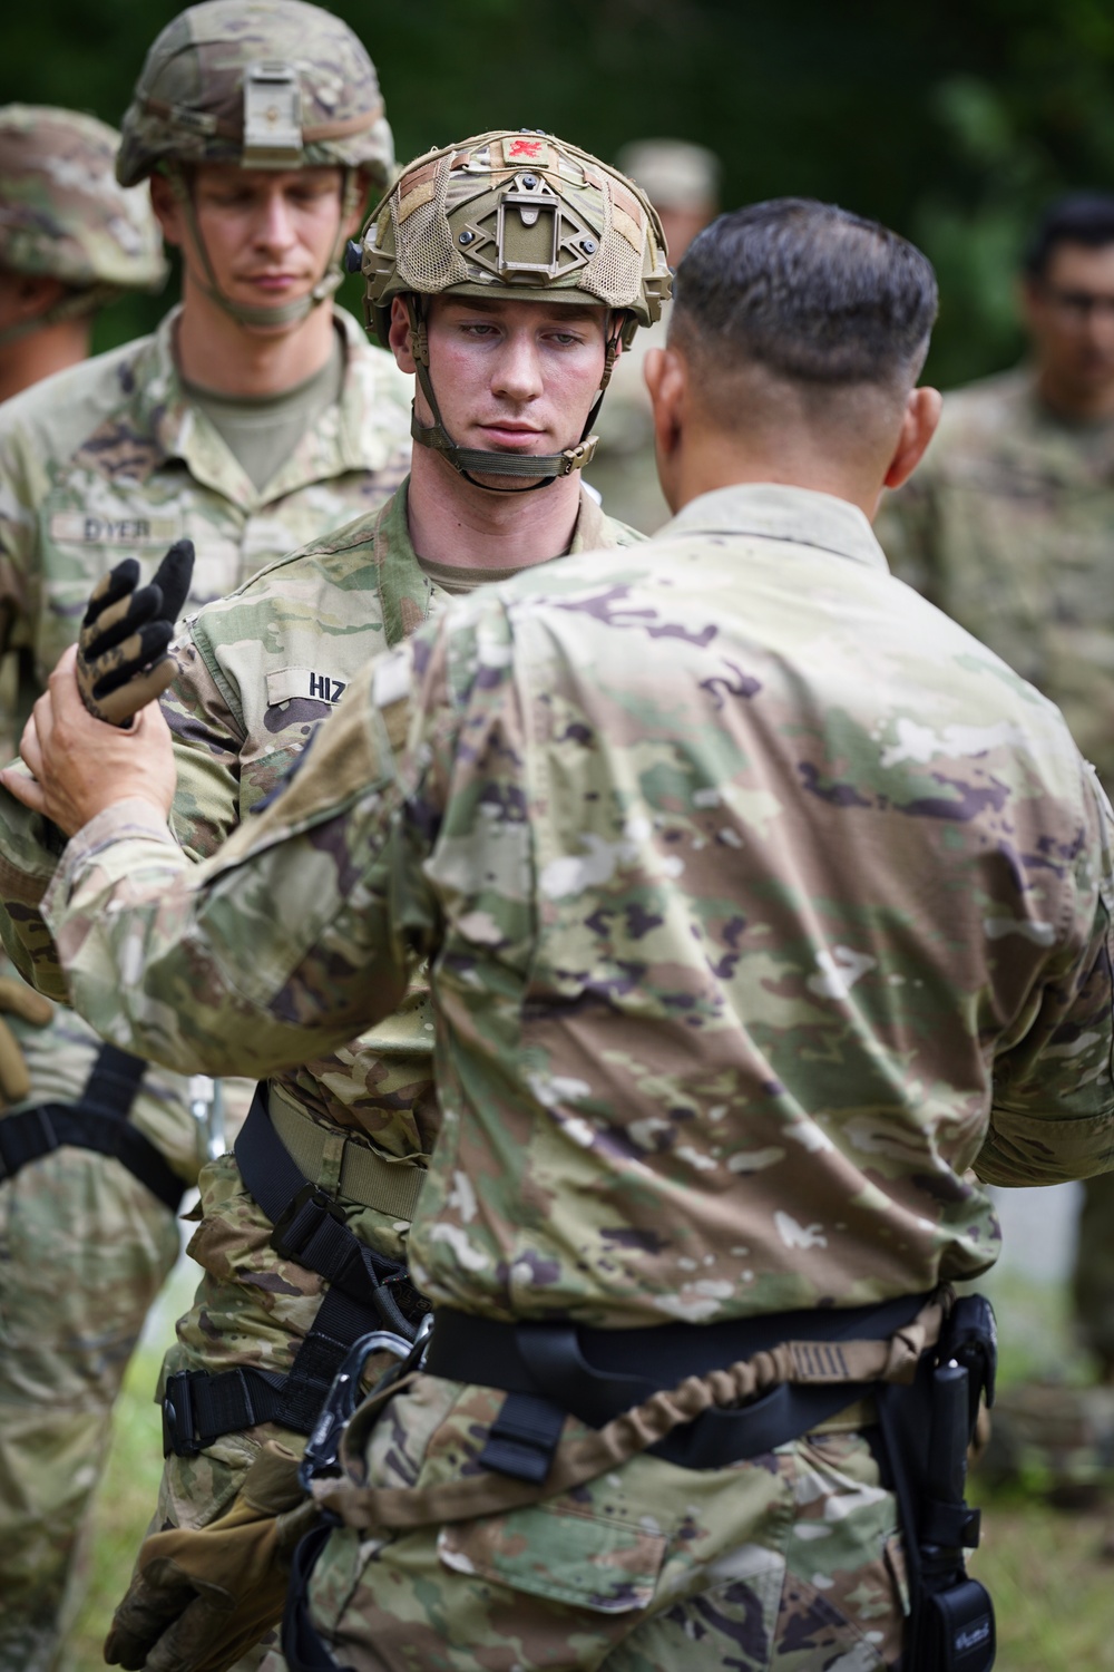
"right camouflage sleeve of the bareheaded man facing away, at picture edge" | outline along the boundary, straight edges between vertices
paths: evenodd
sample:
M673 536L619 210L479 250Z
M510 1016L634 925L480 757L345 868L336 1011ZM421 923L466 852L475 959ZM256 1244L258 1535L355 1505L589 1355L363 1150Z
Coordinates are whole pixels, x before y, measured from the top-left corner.
M1017 1042L995 1057L975 1159L984 1184L1062 1184L1114 1167L1114 814L1092 767L1082 789L1066 956L1034 991Z

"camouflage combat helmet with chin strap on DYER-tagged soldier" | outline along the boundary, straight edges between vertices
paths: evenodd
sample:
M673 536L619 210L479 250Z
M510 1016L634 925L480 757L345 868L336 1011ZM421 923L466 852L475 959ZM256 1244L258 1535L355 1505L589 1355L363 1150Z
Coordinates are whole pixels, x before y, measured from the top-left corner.
M155 169L182 204L207 291L241 324L292 324L341 283L342 236L309 293L286 308L234 303L217 286L197 227L185 167L341 167L341 224L359 201L359 176L382 191L394 140L376 67L339 17L304 0L202 0L162 30L124 115L117 179Z

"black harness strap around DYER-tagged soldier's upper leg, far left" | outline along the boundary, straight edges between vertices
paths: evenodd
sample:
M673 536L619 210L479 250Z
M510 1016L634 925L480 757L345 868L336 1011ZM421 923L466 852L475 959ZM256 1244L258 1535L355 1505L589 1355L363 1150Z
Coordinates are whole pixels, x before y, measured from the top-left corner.
M177 1214L185 1185L155 1145L127 1119L147 1063L115 1045L97 1052L75 1104L37 1104L0 1119L0 1180L63 1144L115 1155L152 1195Z

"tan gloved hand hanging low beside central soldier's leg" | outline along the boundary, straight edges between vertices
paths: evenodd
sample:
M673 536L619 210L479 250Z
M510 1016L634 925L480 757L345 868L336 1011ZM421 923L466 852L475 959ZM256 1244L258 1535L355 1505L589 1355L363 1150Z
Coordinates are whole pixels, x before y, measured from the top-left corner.
M291 1557L317 1522L297 1465L267 1441L219 1520L144 1540L105 1639L109 1665L225 1672L277 1625Z

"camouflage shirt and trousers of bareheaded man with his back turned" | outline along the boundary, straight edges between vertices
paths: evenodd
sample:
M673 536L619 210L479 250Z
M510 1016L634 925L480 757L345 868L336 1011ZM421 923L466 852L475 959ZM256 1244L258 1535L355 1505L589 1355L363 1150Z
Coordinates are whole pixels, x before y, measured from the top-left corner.
M210 1072L334 1048L431 955L424 1292L715 1324L974 1277L999 1227L970 1167L1109 1165L1109 834L1057 711L892 580L858 510L750 485L453 604L200 868L150 804L105 809L43 916L107 1037ZM474 1483L498 1404L419 1378L369 1481ZM311 1602L359 1672L868 1672L900 1542L852 1426L342 1528Z

